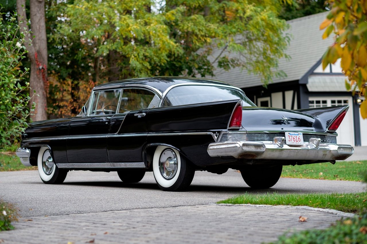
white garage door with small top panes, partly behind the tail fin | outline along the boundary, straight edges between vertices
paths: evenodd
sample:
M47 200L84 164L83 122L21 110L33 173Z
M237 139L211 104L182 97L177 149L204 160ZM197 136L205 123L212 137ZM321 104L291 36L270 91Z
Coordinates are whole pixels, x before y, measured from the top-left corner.
M346 113L342 123L337 129L338 144L349 144L354 146L354 123L352 111L352 97L309 97L310 108L322 108L330 106L349 105L349 110Z

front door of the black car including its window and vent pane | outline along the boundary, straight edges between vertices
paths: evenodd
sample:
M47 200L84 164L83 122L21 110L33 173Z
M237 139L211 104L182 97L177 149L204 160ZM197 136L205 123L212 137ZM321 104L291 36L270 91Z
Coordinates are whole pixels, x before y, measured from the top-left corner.
M70 122L66 151L69 163L107 162L107 135L116 115L121 89L94 91L84 116Z

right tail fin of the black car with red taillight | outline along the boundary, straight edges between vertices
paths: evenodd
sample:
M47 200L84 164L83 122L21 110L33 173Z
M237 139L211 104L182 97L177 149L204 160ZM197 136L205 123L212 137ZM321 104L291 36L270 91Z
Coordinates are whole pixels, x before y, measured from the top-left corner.
M315 118L313 127L319 132L335 132L341 124L349 106L334 106L312 109L298 109L298 112Z

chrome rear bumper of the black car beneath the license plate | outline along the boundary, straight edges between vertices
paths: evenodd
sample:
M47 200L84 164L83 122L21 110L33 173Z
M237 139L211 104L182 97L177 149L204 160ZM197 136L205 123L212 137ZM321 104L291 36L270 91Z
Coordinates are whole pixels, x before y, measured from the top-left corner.
M280 142L277 140L274 142L218 142L209 144L207 151L211 157L326 161L344 160L354 152L350 145L320 144L316 140L317 138L312 138L302 146L288 146L281 140Z

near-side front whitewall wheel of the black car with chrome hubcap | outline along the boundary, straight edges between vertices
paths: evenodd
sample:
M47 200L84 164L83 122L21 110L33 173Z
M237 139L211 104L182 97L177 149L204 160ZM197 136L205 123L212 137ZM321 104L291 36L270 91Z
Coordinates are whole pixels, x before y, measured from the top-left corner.
M68 174L68 170L59 169L54 163L51 150L41 147L37 158L38 173L45 184L61 184Z

